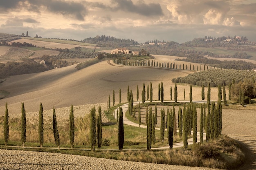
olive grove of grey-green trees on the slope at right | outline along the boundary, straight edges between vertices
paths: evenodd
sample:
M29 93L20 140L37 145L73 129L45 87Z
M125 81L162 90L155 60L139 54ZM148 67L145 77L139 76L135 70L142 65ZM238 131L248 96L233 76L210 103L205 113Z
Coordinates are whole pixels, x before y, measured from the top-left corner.
M216 87L218 85L226 86L233 81L238 83L243 79L252 79L254 76L254 71L245 70L231 70L231 69L211 69L207 71L195 72L189 74L185 77L173 78L173 83L187 83L197 86L208 86L210 83L211 87Z

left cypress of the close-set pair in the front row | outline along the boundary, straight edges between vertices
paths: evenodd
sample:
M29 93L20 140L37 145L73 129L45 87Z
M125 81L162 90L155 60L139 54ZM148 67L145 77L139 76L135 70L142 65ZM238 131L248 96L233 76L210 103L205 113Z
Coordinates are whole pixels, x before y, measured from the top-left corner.
M95 106L90 110L90 146L94 151L96 145L96 109Z

